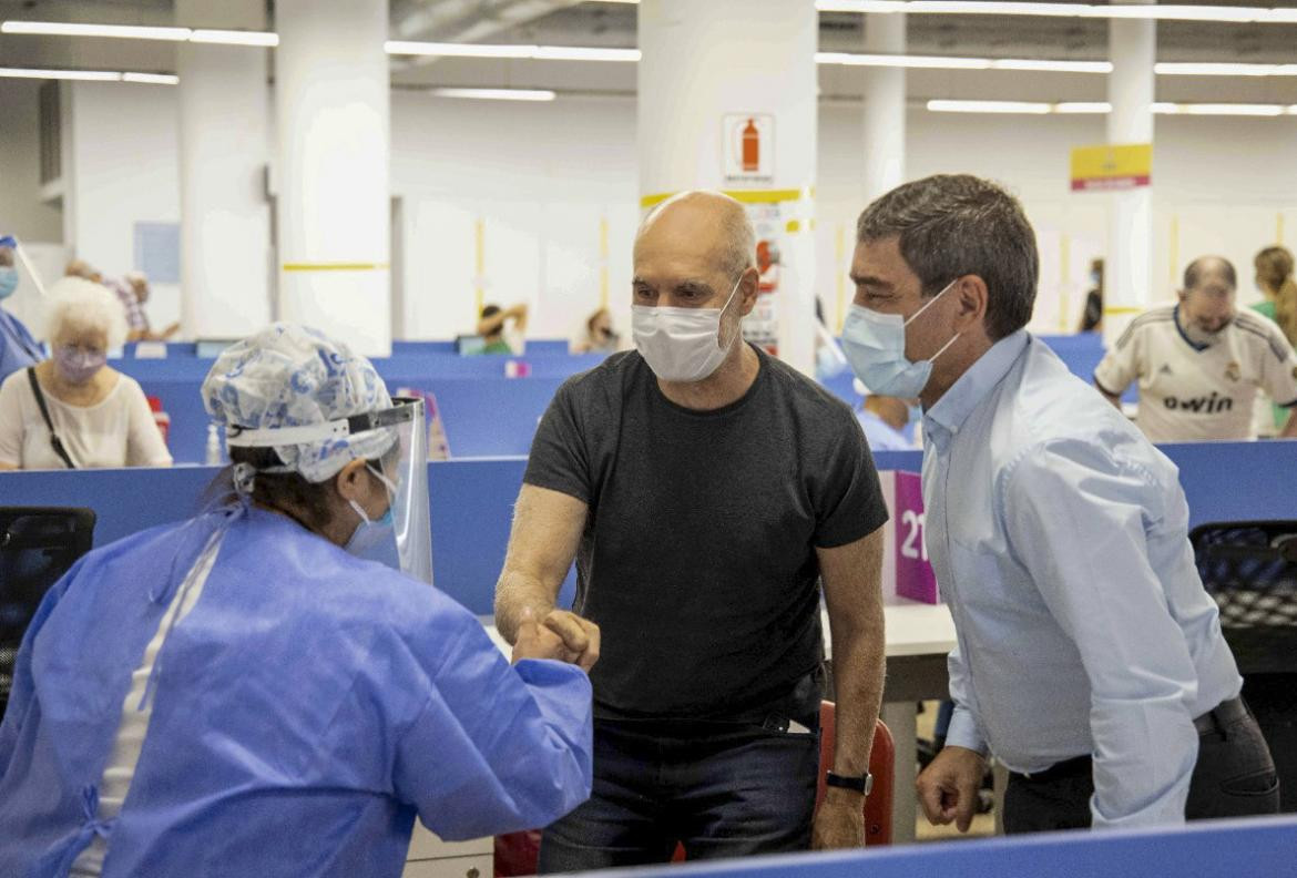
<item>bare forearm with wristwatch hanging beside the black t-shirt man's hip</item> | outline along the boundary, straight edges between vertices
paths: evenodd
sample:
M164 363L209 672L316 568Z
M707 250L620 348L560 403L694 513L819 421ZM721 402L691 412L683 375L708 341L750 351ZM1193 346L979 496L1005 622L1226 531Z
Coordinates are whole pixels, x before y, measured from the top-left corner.
M833 770L860 776L869 769L869 751L883 700L886 673L883 615L833 641L833 680L837 690L837 734Z

